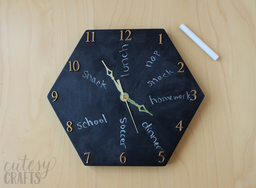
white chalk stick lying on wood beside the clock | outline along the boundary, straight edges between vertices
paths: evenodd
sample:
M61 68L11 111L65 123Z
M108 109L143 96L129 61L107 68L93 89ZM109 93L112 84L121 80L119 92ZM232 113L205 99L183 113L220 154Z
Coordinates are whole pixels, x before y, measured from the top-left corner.
M200 38L198 38L187 26L180 25L180 29L185 32L198 46L200 46L210 57L215 61L218 59L217 55L209 46L207 46Z

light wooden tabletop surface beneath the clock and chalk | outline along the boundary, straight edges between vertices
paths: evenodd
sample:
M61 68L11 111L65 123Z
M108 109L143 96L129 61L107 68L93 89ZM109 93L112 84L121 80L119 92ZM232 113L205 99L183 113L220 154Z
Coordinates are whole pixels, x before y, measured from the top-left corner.
M46 98L86 29L120 28L164 28L205 94L165 167L84 166ZM255 0L0 0L0 187L255 188L255 29ZM25 155L56 165L6 184Z

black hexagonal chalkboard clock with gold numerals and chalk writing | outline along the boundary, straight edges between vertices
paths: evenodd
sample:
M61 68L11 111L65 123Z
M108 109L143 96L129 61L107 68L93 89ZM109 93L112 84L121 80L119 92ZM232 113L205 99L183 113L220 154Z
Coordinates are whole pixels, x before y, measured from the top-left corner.
M93 166L165 166L203 98L163 29L85 31L48 94Z

